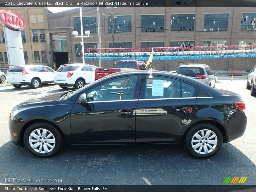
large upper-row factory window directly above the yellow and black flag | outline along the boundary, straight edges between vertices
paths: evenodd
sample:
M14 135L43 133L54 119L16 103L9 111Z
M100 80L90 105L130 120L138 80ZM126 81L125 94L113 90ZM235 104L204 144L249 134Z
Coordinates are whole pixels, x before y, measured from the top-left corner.
M164 15L141 15L141 32L164 31Z

